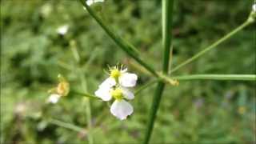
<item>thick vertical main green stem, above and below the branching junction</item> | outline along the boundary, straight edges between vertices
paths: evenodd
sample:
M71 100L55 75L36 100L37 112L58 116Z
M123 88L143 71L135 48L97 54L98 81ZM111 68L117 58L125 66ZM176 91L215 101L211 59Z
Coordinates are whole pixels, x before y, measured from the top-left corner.
M172 25L172 14L173 14L174 0L162 0L162 46L163 46L163 62L162 72L167 74L169 70L169 62L171 59L170 48L171 48L171 25ZM165 88L164 82L158 82L158 86L154 93L153 103L150 109L149 122L146 128L146 135L144 138L145 144L150 141L150 136L154 128L154 120L156 118L158 107L162 98L162 93Z

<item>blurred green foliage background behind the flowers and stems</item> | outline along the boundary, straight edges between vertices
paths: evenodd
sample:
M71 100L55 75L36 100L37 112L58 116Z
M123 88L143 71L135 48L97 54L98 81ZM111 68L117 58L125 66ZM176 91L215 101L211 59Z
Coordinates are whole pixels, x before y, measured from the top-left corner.
M250 0L176 0L173 66L245 22L251 4ZM161 70L160 1L106 0L93 8L138 47L146 62ZM56 30L63 25L69 30L62 37ZM255 74L254 26L174 75ZM46 104L47 90L57 84L58 74L72 88L90 94L107 77L107 65L118 62L139 75L137 87L152 79L131 64L75 0L2 0L1 51L1 143L88 142L85 98L70 94L56 105ZM106 102L90 101L94 143L142 142L153 94L150 86L136 95L131 101L134 114L122 122L110 114ZM194 80L166 86L150 142L253 143L255 106L255 82ZM71 130L67 123L82 129Z

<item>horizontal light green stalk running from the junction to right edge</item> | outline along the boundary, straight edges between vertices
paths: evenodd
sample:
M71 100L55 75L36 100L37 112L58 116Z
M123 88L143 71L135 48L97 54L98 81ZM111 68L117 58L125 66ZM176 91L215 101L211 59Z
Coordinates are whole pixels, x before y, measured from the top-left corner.
M255 74L193 74L193 75L177 76L173 78L176 78L180 81L198 80L198 79L256 81Z

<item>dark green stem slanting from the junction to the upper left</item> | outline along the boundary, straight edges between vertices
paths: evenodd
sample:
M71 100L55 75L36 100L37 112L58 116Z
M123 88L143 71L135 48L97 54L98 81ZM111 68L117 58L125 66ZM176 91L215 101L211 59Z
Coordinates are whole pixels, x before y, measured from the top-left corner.
M130 55L131 58L134 58L139 64L144 66L146 70L148 70L151 74L158 77L158 73L154 70L153 66L150 66L146 62L142 61L141 58L138 56L137 49L134 48L130 43L126 42L122 38L120 38L117 34L114 34L113 30L110 30L109 26L106 26L105 22L102 21L101 18L98 17L97 14L95 14L94 10L90 8L90 6L87 6L85 0L80 0L82 2L82 5L86 7L86 10L88 13L98 22L100 26L102 26L102 29L106 31L106 34L110 36L118 44L118 46L126 52L126 54Z

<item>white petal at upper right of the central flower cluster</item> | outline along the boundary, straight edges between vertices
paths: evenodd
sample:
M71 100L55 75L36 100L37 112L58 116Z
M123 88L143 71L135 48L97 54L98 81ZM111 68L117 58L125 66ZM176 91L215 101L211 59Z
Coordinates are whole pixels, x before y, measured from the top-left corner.
M133 87L136 85L137 79L136 74L125 73L120 76L119 83L124 87Z

